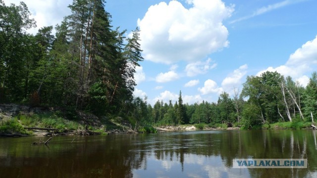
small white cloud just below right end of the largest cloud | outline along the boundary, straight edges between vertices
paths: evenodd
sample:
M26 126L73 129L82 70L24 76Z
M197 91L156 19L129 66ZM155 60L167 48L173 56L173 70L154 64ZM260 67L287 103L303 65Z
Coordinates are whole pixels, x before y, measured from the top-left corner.
M217 66L216 63L212 63L212 60L209 58L205 62L197 61L193 63L189 63L185 67L185 72L188 77L197 76L200 74L206 74L209 70L215 68Z

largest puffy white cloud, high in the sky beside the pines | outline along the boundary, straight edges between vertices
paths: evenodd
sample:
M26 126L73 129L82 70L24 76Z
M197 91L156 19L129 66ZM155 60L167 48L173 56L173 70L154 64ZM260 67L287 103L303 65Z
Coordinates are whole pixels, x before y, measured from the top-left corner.
M228 46L222 24L233 12L221 0L191 0L186 9L179 1L160 2L138 19L144 58L166 64L200 60Z

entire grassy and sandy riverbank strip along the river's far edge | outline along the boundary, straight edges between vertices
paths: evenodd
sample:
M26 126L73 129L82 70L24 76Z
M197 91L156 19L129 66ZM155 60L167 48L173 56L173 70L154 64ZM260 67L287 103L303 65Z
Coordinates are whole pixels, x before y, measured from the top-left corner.
M128 119L117 116L97 117L74 108L30 107L19 104L0 104L0 136L54 136L157 133L196 130L300 130L316 129L315 123L293 122L265 123L253 127L234 124L194 124L177 126L136 126Z

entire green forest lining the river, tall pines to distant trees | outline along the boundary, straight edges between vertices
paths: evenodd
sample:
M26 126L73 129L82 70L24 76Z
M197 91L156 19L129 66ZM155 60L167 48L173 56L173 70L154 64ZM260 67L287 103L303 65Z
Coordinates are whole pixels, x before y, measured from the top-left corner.
M36 27L24 2L0 0L0 103L58 106L138 126L233 124L244 129L317 119L317 73L302 87L277 72L248 76L243 89L222 92L217 102L183 103L133 96L135 67L143 61L139 29L111 26L105 0L73 0L60 24ZM55 34L53 34L53 29Z

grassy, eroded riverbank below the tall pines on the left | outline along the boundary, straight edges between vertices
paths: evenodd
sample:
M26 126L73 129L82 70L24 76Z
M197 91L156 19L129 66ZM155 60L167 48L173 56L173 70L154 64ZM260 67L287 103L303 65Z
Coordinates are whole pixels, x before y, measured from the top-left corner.
M73 108L0 104L0 136L133 133L120 117L97 117Z

